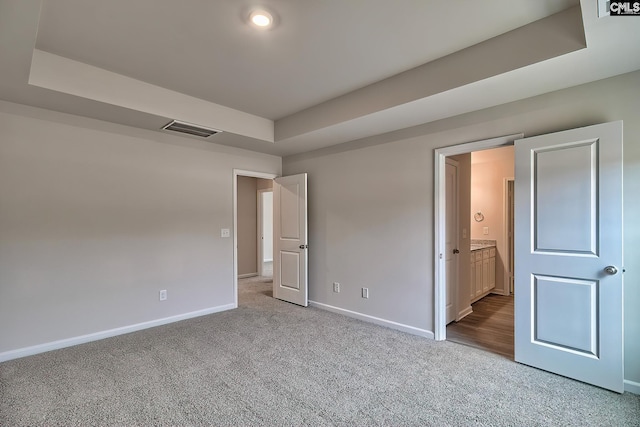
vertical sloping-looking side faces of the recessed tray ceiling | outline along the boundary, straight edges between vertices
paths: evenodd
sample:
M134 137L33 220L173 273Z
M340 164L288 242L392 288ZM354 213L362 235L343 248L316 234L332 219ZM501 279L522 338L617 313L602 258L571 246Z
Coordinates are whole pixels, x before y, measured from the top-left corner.
M585 47L573 7L275 123L37 49L29 84L277 145Z

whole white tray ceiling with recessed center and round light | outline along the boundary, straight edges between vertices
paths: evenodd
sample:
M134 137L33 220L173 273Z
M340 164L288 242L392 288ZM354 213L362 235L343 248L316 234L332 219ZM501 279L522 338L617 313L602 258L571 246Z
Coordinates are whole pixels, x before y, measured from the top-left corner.
M247 25L256 4L273 29ZM177 118L226 131L212 142L290 155L640 69L637 18L596 11L596 0L0 0L0 99L153 130Z

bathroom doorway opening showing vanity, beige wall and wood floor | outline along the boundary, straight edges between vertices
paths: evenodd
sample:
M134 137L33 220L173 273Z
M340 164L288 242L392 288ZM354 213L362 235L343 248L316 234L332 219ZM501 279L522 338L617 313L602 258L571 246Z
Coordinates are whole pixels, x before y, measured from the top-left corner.
M513 182L514 147L475 151L447 157L447 168L455 159L459 169L460 218L449 212L451 188L446 175L447 233L454 228L460 239L454 252L447 245L446 257L458 259L455 273L460 310L450 315L447 306L447 340L481 348L509 359L514 357L514 301L510 296L508 182ZM449 241L449 239L447 239ZM447 263L449 265L450 263ZM447 269L447 281L452 272ZM455 277L455 276L453 276ZM448 300L455 295L447 284ZM452 320L454 320L452 322Z

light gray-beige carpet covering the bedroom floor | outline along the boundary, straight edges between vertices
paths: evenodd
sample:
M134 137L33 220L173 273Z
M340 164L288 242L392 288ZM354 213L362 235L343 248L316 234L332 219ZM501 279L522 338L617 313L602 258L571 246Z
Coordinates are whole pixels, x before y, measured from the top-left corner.
M640 396L243 282L237 310L0 364L0 425L640 425Z

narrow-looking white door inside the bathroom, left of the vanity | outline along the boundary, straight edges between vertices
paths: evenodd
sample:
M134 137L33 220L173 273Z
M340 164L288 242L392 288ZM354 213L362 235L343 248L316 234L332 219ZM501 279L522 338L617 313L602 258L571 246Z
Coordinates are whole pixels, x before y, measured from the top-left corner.
M447 274L446 322L456 320L458 288L458 162L446 159L445 268Z

